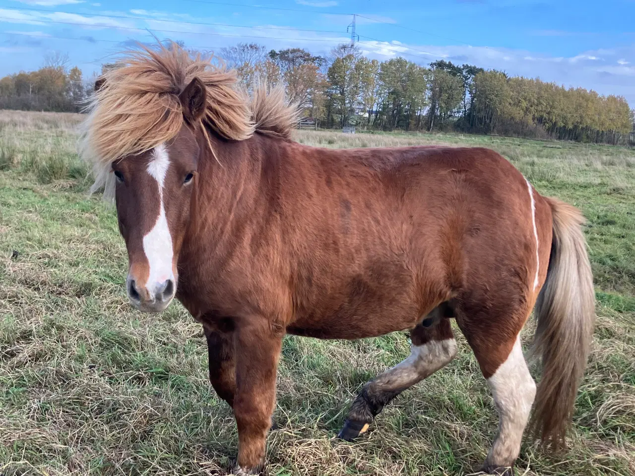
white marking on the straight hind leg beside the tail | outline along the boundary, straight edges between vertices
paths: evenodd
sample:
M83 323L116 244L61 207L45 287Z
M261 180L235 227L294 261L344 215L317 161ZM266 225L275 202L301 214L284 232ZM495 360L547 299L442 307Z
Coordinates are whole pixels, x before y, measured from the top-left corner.
M536 383L531 378L523 356L520 337L497 371L487 380L498 410L498 434L486 463L511 466L518 457L523 432L536 395Z

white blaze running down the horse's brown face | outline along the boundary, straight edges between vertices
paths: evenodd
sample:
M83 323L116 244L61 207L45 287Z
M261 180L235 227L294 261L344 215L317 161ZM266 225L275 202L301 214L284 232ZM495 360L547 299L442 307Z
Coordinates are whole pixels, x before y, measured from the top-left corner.
M144 252L150 265L150 273L146 286L161 284L166 279L173 279L172 272L172 237L163 204L163 184L170 167L170 155L164 144L152 150L152 159L147 166L150 176L154 177L159 187L159 216L154 227L144 236Z

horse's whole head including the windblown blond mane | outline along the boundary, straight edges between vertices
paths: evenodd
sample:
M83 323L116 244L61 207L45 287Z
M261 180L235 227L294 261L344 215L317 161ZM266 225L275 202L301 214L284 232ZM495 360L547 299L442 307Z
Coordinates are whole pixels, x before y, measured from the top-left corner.
M83 156L92 190L114 192L130 260L126 288L141 310L163 310L177 291L197 168L215 157L212 139L245 140L255 128L290 136L297 110L282 86L257 88L249 103L235 83L234 71L176 43L126 51L95 83Z

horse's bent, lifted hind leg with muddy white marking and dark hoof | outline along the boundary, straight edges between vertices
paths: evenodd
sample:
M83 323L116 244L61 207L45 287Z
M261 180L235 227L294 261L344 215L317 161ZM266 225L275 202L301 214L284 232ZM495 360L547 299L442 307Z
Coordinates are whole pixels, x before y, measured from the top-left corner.
M364 385L351 406L340 438L350 441L366 432L373 418L394 397L446 366L457 355L457 343L447 317L424 319L412 329L410 338L410 357Z

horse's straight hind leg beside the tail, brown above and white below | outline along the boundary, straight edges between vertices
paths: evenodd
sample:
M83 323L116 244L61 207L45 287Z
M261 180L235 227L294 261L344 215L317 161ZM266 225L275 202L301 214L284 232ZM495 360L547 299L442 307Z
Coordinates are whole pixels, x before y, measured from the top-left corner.
M491 307L481 315L459 311L457 322L474 350L498 411L498 433L483 472L511 476L536 394L519 336L527 312L490 313Z

